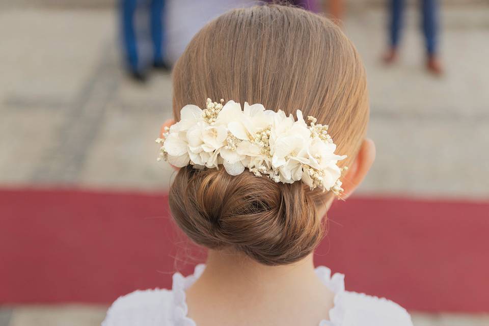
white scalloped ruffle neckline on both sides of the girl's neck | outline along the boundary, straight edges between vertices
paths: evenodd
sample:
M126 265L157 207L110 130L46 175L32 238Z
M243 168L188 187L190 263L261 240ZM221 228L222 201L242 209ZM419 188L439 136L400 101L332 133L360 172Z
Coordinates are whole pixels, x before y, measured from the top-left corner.
M205 264L195 266L194 274L184 277L180 273L173 275L173 323L175 326L197 326L196 322L187 316L188 306L186 302L185 290L194 284L204 272ZM341 326L344 319L344 309L340 304L340 294L345 291L345 276L335 273L331 275L331 269L324 266L316 267L316 275L333 293L334 306L329 311L330 320L322 320L319 326Z

